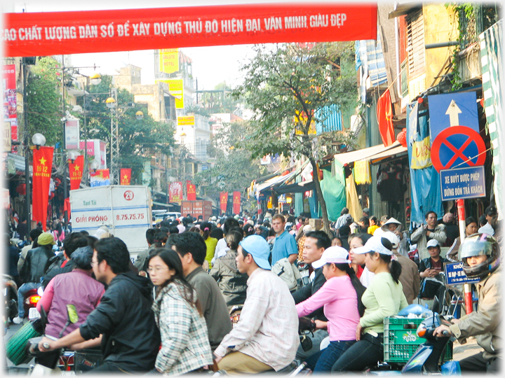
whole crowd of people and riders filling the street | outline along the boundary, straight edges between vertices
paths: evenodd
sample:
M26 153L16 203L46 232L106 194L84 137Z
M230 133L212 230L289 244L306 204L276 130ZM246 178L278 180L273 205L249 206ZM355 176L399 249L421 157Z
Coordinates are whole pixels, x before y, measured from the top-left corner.
M490 314L499 311L500 270L492 235L501 230L496 209L485 214L480 228L467 218L463 243L450 234L454 216L438 224L433 211L410 235L395 218L369 216L368 209L358 222L342 209L330 235L289 214L206 221L187 214L147 230L148 248L133 262L105 226L93 236L67 234L62 253L53 248L58 235L32 230L15 268L20 293L45 288L37 309L48 314L48 325L39 348L100 347L104 362L95 372L251 374L282 370L297 359L316 373L363 370L382 360L384 318L431 300L423 283L442 280L444 262L462 261L469 276L481 279L478 311L436 332L478 336L485 351L462 368L496 371L499 316ZM445 257L441 246L450 247ZM282 274L271 272L299 262L309 265L306 286L290 290ZM79 320L60 335L68 303ZM243 308L232 325L236 304ZM25 316L20 306L14 322ZM310 348L300 343L302 317L316 326ZM327 337L330 344L320 350Z

